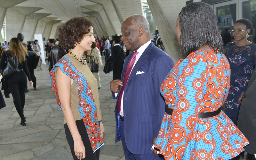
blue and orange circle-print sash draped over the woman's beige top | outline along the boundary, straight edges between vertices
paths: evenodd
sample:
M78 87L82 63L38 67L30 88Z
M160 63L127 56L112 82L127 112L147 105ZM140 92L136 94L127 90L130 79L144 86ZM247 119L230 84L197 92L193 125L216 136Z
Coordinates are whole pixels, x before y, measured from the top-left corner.
M82 65L82 64L80 63L79 65ZM62 57L53 66L52 70L49 73L50 79L52 81L51 86L55 92L56 101L60 109L61 109L61 103L60 103L58 88L55 80L56 67L60 67L60 70L63 73L65 73L67 76L72 78L74 82L76 82L77 84L78 101L79 101L79 103L77 104L79 105L78 110L84 121L84 125L86 128L89 140L91 142L92 151L95 152L103 145L103 141L100 133L100 126L98 123L97 108L95 107L95 100L93 98L93 93L92 93L90 84L88 83L88 81L86 80L82 72L80 72L67 57L65 56Z

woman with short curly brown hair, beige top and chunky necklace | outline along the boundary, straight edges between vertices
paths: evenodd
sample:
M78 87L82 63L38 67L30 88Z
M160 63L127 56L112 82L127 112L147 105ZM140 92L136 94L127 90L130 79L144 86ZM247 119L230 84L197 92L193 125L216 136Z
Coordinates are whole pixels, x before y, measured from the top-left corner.
M49 73L74 160L99 160L103 145L97 80L83 56L95 42L92 26L90 19L74 17L59 29L59 42L69 52Z

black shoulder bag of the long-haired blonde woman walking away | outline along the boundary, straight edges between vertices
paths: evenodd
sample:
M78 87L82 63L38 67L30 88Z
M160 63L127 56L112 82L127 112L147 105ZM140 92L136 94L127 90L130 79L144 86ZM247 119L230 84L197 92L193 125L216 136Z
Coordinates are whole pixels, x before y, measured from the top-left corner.
M8 58L9 55L9 58ZM21 70L19 69L18 57L11 57L9 52L6 52L7 61L5 64L5 68L3 71L3 78L9 78L14 74L19 73Z

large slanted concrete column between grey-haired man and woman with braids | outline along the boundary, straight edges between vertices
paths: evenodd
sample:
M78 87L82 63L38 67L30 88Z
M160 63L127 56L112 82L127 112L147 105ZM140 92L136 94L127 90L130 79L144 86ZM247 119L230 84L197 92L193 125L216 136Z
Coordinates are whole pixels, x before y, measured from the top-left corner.
M186 0L147 0L148 6L154 17L159 34L163 40L165 50L168 55L177 62L185 58L185 54L180 53L180 46L175 34L176 20L182 7L186 5ZM172 9L170 9L172 6Z

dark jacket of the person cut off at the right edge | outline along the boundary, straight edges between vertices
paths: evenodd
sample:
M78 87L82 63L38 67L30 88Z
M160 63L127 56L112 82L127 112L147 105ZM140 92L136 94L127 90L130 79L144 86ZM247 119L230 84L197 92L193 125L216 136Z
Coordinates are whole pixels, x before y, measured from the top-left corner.
M256 68L248 86L244 92L244 97L239 110L237 127L242 131L250 144L244 149L249 154L256 154Z

